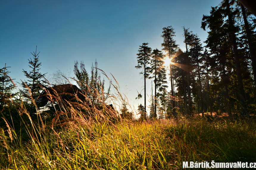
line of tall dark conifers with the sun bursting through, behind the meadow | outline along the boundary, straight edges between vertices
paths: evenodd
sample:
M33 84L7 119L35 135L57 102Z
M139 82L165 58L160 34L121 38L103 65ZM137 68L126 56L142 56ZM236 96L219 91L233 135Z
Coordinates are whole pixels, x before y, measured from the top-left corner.
M142 69L140 74L144 78L144 107L141 104L139 112L146 110L146 79L153 79L150 119L157 115L204 116L205 112L255 114L255 24L255 18L238 0L223 0L212 7L210 15L202 17L201 28L209 28L204 47L197 34L183 27L186 50L182 51L174 40L172 26L163 28L161 35L165 56L158 49L152 50L149 43L143 43L135 66ZM169 70L164 67L164 58L171 60ZM139 94L138 98L141 97ZM143 114L142 118L147 117Z

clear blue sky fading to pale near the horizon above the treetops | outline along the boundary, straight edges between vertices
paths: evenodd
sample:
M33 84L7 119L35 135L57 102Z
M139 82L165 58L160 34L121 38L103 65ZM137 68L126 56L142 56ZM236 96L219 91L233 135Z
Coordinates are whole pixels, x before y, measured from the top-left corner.
M162 28L167 26L174 28L174 40L183 51L182 26L205 41L207 31L200 28L202 16L209 15L211 6L220 2L0 0L0 67L6 63L11 67L11 78L25 80L22 69L29 71L28 59L33 58L30 52L36 46L40 72L48 73L46 76L58 69L73 71L75 61L84 61L90 72L97 59L98 68L108 76L113 74L121 93L137 109L144 103L143 98L135 100L136 90L144 94L141 70L135 69L139 46L145 42L152 50L161 50ZM149 96L150 83L147 80Z

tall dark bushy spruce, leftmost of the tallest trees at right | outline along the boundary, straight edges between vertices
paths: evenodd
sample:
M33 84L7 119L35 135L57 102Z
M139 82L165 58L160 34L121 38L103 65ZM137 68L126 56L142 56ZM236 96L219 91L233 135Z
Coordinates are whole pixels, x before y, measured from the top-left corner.
M218 99L217 103L223 103L222 105L218 104L219 108L223 110L224 106L225 111L230 115L229 85L231 69L230 61L232 61L230 49L232 49L232 47L229 42L229 29L227 24L225 24L223 12L224 10L220 8L212 7L210 16L203 15L201 28L204 30L206 26L207 28L210 28L205 43L207 43L206 47L210 49L210 57L208 57L209 59L207 63L209 64L211 74L213 75L214 98Z

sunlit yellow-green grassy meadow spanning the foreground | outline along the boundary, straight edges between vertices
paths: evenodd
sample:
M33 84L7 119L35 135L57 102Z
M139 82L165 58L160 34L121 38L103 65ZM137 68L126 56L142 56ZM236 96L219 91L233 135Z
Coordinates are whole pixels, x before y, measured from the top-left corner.
M29 120L20 129L4 123L1 169L182 169L182 161L256 162L252 118L114 124L81 119L40 127Z

